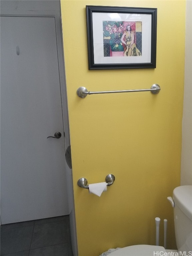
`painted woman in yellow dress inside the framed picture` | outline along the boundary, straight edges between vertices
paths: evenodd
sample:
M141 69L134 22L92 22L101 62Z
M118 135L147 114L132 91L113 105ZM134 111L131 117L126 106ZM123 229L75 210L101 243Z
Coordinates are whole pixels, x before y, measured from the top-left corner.
M134 31L128 25L127 30L124 31L121 37L121 42L125 45L124 56L141 56L141 52L137 49L134 39Z

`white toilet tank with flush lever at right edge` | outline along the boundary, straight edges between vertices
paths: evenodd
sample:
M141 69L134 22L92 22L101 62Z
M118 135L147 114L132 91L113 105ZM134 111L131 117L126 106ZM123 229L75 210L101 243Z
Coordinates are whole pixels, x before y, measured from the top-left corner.
M192 251L192 186L175 188L173 200L177 249L188 255Z

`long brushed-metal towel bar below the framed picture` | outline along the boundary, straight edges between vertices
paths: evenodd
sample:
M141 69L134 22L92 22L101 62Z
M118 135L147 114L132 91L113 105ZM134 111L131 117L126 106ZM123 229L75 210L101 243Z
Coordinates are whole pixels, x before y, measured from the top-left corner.
M103 94L103 93L119 93L119 92L147 92L150 91L153 94L159 93L161 90L158 84L153 84L150 89L139 89L139 90L123 90L123 91L103 91L103 92L88 92L85 87L79 87L77 89L77 95L80 98L85 98L88 94Z

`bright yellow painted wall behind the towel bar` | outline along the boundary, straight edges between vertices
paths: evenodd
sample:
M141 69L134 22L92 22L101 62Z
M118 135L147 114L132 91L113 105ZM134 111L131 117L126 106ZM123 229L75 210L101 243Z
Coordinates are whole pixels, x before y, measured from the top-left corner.
M109 248L155 244L155 217L168 219L168 248L175 248L173 208L167 196L180 184L184 87L185 1L61 0L79 256ZM156 69L88 70L86 5L157 8ZM89 91L161 91L76 95ZM77 180L115 182L101 197Z

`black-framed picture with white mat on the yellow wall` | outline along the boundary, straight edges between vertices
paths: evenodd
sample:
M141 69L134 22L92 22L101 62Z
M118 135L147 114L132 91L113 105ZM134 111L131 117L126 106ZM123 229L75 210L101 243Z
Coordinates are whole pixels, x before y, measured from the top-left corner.
M86 6L89 69L156 68L157 9Z

